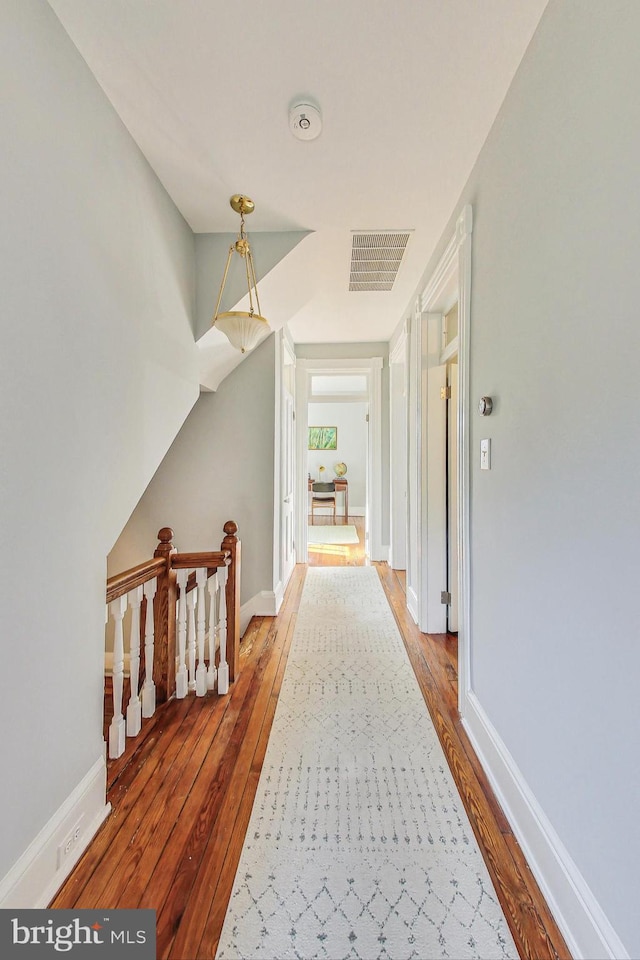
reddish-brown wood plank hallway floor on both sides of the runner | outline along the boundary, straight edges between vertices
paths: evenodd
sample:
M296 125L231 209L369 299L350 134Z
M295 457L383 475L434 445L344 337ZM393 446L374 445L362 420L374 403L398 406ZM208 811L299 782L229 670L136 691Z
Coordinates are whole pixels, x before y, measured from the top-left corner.
M312 565L361 564L360 543ZM421 634L403 579L375 564L522 958L569 958L457 712L457 641ZM212 958L233 886L293 631L306 568L298 565L278 617L255 617L227 697L171 701L126 758L109 763L113 812L51 906L151 907L157 955ZM274 958L275 960L275 958Z

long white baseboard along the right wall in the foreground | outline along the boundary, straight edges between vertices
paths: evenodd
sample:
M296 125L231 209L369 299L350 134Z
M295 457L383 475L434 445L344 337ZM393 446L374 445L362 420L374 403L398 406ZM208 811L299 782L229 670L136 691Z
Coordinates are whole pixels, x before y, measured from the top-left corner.
M470 691L463 725L574 960L630 960L600 904Z

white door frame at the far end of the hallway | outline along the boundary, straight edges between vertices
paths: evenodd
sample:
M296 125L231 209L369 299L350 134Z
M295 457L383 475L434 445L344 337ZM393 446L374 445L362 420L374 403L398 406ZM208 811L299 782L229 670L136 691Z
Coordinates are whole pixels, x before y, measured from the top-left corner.
M296 362L296 556L307 563L307 436L308 407L313 400L311 377L314 374L366 373L369 402L369 443L367 452L368 555L371 560L388 560L389 547L382 543L382 357L348 360L303 360Z

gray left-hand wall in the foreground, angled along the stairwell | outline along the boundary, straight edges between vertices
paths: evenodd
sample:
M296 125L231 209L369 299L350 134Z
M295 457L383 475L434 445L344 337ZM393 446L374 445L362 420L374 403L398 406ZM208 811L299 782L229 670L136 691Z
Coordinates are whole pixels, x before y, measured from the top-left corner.
M105 558L198 395L193 236L44 0L7 0L0 878L103 756Z

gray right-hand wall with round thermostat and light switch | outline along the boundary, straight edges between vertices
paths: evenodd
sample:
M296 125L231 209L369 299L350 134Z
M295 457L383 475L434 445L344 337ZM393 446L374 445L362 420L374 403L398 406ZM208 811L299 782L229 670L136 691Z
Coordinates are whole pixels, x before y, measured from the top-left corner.
M632 957L639 36L636 0L551 0L456 208L474 212L473 689Z

